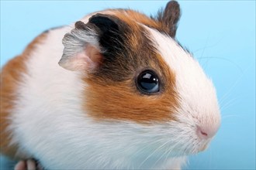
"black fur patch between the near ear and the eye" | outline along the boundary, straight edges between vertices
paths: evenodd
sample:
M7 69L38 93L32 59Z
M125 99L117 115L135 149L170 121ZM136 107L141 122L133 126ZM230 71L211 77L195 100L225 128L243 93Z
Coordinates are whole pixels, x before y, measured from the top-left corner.
M76 23L77 29L94 29L99 35L99 43L103 49L102 64L97 71L91 73L102 83L115 83L133 79L138 70L144 68L161 70L147 31L140 26L134 29L126 22L114 15L93 15L87 24ZM136 44L133 46L130 37L136 35ZM153 66L152 64L153 63Z

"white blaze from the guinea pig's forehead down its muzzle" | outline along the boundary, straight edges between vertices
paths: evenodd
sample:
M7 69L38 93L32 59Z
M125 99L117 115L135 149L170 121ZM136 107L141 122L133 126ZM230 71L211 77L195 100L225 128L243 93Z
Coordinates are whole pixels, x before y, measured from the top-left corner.
M203 72L199 63L185 49L154 29L145 27L155 48L176 76L176 91L180 108L175 114L176 127L185 147L185 152L198 152L205 148L210 139L199 140L197 127L206 127L216 133L220 127L220 109L213 83Z

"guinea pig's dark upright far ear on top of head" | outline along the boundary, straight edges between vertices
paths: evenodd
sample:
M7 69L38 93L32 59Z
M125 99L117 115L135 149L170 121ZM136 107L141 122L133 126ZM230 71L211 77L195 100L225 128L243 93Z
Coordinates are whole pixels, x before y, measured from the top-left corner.
M164 11L158 12L157 20L168 28L168 34L171 37L175 37L178 20L181 15L178 2L171 1L165 6Z

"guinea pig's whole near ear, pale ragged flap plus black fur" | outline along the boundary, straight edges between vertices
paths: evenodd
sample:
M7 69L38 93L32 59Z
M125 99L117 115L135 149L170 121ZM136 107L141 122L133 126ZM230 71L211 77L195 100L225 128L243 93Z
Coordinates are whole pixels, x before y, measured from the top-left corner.
M118 19L112 15L96 14L88 23L76 22L75 28L64 36L64 53L59 65L67 70L93 72L101 66L109 48L118 47Z

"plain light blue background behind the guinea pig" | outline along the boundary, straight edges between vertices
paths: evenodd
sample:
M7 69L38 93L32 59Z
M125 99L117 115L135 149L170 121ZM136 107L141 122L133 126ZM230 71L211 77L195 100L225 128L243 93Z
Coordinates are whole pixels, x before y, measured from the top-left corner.
M1 66L40 32L104 8L156 14L166 1L1 1ZM255 2L181 1L177 39L213 78L222 126L192 169L255 169Z

